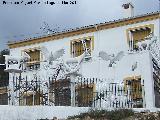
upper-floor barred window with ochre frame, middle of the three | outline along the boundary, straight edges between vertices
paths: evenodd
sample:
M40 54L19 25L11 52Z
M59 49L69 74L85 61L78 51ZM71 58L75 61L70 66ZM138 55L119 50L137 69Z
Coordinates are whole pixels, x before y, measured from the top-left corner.
M93 43L94 37L93 36L72 40L71 41L71 55L72 55L72 57L77 57L77 56L84 53L85 50L84 50L84 46L82 44L82 40L85 40L86 48L87 48L89 54L91 54L91 51L92 51L93 45L94 45L94 43Z

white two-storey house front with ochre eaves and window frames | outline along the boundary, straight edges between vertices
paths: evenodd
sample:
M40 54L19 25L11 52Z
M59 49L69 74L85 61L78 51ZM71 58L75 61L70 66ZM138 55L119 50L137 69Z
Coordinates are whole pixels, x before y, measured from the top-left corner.
M21 72L14 73L12 70L15 67L8 71L9 104L39 105L46 93L45 102L51 104L52 101L52 105L108 107L118 99L113 107L129 106L129 101L131 107L159 107L160 64L159 54L156 54L159 52L159 31L160 13L154 12L9 43L13 58L23 56L24 53L30 56L23 67L19 66ZM42 48L48 50L48 55L52 52L53 57L54 52L61 48L64 53L50 64L46 62L47 57ZM76 59L86 49L88 55L80 62L78 73L63 75L62 70L56 68L59 61ZM7 71L13 64L6 64ZM47 65L52 67L47 69ZM39 88L27 91L27 81L30 81L30 85L39 85ZM40 81L50 87L46 85L41 88ZM35 89L38 92L34 92ZM112 94L106 96L106 91L112 91ZM121 95L117 95L120 92ZM15 97L17 94L18 99Z

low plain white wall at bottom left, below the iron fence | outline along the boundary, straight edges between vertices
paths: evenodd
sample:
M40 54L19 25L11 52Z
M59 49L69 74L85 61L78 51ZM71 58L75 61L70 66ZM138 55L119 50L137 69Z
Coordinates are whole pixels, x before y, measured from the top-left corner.
M0 120L59 119L87 112L88 107L64 106L0 106Z

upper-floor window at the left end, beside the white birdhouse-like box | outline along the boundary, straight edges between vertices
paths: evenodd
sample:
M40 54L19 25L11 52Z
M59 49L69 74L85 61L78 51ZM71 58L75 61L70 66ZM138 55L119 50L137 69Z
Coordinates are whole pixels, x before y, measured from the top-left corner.
M30 59L27 61L27 69L38 70L40 68L40 50L33 48L25 50L25 52L30 56Z

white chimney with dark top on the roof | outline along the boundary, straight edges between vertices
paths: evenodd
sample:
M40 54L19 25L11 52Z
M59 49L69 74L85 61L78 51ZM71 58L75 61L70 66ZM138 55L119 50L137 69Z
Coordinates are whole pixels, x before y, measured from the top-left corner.
M134 16L134 5L131 0L125 0L126 2L122 5L124 18L133 17Z

